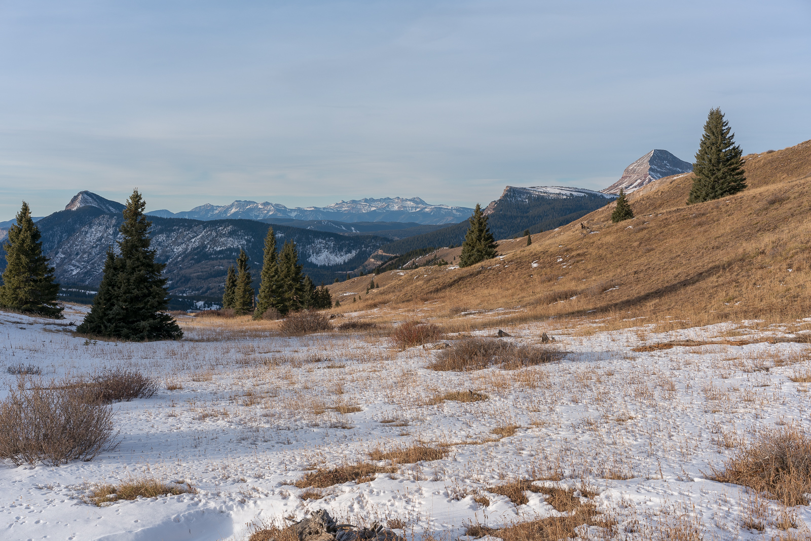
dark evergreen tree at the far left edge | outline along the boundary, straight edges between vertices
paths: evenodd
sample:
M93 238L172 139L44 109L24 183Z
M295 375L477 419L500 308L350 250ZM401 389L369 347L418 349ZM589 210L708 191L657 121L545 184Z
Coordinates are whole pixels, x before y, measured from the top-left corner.
M25 201L16 221L3 244L6 270L2 273L0 307L61 318L62 307L57 304L59 284L54 283L54 268L42 253L40 230Z

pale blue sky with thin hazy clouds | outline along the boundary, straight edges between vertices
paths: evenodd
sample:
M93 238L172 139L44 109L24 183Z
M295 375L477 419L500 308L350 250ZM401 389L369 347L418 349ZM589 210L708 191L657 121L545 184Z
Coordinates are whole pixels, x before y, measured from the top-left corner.
M811 139L811 2L0 0L0 220L599 190L710 108Z

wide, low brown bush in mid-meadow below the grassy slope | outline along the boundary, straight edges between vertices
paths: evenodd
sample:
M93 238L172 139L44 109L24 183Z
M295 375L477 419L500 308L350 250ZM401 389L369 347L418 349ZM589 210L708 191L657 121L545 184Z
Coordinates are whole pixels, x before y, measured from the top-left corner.
M517 346L508 341L466 338L442 350L428 368L436 371L481 370L493 365L504 369L554 363L564 358L555 346Z

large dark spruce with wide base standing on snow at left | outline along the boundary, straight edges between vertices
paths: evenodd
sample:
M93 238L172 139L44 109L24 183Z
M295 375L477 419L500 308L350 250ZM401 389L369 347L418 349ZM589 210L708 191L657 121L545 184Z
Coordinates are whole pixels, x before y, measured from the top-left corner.
M144 216L146 203L134 190L124 208L124 223L118 228L118 255L107 251L104 276L98 294L79 333L122 340L178 339L183 336L177 321L165 313L169 307L164 264L155 263Z

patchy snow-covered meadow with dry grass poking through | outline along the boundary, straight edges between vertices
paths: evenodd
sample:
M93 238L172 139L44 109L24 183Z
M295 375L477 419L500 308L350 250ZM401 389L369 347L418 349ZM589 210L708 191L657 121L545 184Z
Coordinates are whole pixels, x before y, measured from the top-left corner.
M586 332L589 324L527 324L508 328L506 340L539 344L546 332L565 359L443 372L426 368L437 354L430 347L399 351L387 338L363 334L286 338L182 317L183 341L94 342L71 334L69 323L82 316L75 308L56 322L0 312L0 397L16 383L6 367L17 363L41 367L45 380L138 368L160 380L161 391L114 404L115 453L58 467L0 466L0 539L243 541L251 522L298 520L315 509L354 524L398 518L408 539L426 532L457 539L470 523L499 527L560 514L540 493L526 492L528 503L515 505L487 490L555 472L564 479L538 484L590 487L597 509L616 520L616 539L651 539L650 531L674 521L695 525L704 539L770 539L785 535L775 526L779 513L798 526L796 539L811 535L808 507L781 509L744 487L706 479L757 428L808 430L809 386L788 376L811 369L809 345L632 351L707 341L733 327L753 338L764 332L755 322L667 333L644 320L596 333ZM182 389L168 391L167 382ZM431 400L468 389L487 399ZM360 410L342 414L353 409L346 406ZM504 427L514 433L494 434ZM318 489L324 497L317 500L303 500L311 489L292 484L315 467L368 462L374 449L416 442L443 446L448 457ZM143 476L191 483L198 492L104 507L82 500L96 483ZM762 518L763 532L744 526L753 516ZM582 535L597 539L599 530Z

